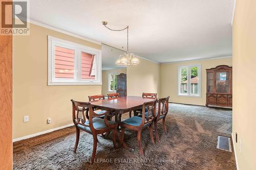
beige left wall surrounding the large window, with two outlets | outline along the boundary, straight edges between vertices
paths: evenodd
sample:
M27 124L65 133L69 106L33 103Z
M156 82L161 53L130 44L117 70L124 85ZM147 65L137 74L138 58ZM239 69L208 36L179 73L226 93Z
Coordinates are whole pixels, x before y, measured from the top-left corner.
M72 124L71 99L88 100L100 85L47 86L47 36L101 49L101 45L30 25L30 36L13 39L13 138ZM29 122L24 123L24 116ZM46 124L52 118L51 124Z

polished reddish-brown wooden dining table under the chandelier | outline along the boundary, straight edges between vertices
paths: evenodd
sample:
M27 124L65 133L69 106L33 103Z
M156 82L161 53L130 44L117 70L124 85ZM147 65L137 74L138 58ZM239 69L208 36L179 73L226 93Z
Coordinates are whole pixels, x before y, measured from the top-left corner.
M121 114L127 113L133 110L141 109L145 102L152 102L156 99L142 98L140 96L124 96L114 99L104 99L98 101L91 101L90 103L94 108L101 110L109 110L115 114L115 121L119 124L121 122ZM120 132L118 131L117 136L121 140ZM126 148L127 145L123 143Z

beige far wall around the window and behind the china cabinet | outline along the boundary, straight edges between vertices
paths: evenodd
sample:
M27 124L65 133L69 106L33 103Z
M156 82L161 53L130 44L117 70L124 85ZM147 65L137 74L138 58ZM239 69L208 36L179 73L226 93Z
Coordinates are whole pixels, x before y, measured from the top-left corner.
M178 67L182 65L201 64L201 97L178 96ZM161 64L161 97L170 96L170 102L205 106L206 70L218 65L232 66L232 58L185 61Z

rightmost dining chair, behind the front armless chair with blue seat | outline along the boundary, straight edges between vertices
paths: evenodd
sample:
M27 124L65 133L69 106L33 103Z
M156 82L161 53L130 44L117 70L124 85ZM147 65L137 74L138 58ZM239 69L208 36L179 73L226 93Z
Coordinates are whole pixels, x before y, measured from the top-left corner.
M165 126L165 118L169 109L169 96L167 98L161 98L158 100L158 111L156 113L156 118L154 120L154 128L156 139L160 142L158 132L157 132L157 123L159 120L163 119L163 130L165 134L167 134L166 126Z

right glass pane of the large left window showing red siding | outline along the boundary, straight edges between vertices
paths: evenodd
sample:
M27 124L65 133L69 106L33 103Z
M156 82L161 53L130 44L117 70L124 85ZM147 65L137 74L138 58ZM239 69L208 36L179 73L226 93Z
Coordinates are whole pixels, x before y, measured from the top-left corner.
M95 79L95 64L93 55L82 52L81 70L82 79Z

